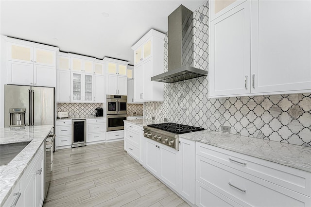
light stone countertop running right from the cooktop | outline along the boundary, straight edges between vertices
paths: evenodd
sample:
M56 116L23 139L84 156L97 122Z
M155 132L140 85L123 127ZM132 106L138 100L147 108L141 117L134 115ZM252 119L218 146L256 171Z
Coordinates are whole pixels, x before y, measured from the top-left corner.
M311 147L210 130L181 134L179 137L311 172Z

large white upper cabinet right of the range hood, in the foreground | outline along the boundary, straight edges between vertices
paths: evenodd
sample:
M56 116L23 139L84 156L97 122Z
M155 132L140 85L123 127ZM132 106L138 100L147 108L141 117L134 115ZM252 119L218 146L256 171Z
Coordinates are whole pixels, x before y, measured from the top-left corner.
M311 1L221 2L210 1L209 97L311 92Z

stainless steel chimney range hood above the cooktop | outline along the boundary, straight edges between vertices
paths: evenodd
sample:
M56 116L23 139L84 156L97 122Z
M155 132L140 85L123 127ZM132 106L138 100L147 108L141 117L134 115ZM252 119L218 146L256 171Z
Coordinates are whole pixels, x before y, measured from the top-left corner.
M207 75L193 65L193 13L180 5L169 16L168 72L151 77L152 81L174 83Z

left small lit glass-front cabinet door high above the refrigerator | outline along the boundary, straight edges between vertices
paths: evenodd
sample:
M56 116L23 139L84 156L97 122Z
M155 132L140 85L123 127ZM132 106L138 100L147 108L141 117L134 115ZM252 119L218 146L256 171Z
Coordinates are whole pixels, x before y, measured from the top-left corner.
M8 42L7 49L8 49L8 60L23 63L33 63L34 60L33 47Z

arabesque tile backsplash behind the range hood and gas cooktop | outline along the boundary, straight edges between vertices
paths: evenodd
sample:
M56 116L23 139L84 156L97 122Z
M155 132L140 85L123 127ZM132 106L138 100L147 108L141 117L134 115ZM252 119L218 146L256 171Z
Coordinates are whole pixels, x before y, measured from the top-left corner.
M194 13L194 67L208 69L208 4ZM164 70L167 71L168 38ZM208 76L164 84L164 102L147 102L145 119L188 124L232 134L311 147L311 94L208 98Z

